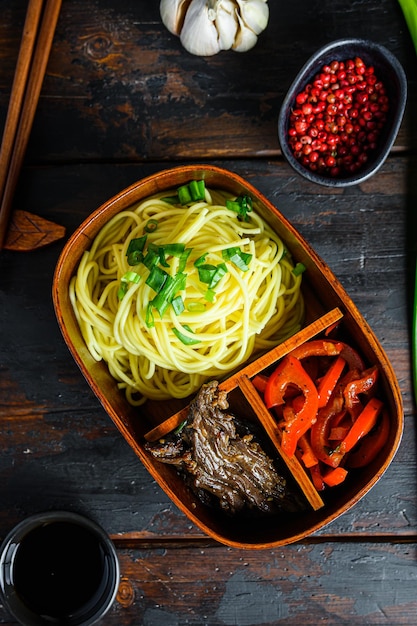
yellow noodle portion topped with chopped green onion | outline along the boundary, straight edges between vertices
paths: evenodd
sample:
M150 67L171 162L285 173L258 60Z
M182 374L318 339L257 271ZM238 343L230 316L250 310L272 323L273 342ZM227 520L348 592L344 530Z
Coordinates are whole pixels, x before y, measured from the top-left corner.
M297 332L303 319L301 274L256 210L239 219L226 207L230 194L217 190L184 206L170 204L169 195L115 215L70 284L91 355L107 363L133 405L187 397ZM138 240L144 253L171 244L186 250L184 258L163 255L158 268L158 275L184 277L172 293L181 310L171 301L162 310L152 304L158 299L152 268L143 259L129 265L129 245ZM247 265L236 263L236 250ZM202 279L202 266L221 270L214 287Z

